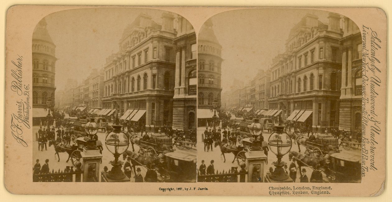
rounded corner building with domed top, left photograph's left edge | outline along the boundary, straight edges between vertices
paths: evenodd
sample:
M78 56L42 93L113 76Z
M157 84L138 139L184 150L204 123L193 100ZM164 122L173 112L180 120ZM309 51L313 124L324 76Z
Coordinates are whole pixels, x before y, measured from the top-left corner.
M46 119L48 114L47 100L50 99L53 102L52 110L56 105L54 99L56 45L49 36L46 25L45 18L43 18L38 22L33 32L33 124L39 124L40 119Z

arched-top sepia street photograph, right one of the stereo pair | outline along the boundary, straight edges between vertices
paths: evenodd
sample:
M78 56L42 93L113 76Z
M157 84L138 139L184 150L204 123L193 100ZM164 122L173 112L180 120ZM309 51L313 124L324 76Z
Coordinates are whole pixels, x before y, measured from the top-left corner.
M212 16L198 34L198 182L361 182L361 58L338 13Z

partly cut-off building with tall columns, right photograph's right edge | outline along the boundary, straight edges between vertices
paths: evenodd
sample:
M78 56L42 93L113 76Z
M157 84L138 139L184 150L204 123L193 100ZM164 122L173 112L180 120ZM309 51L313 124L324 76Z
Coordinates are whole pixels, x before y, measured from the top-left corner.
M347 17L343 32L339 130L353 131L362 128L362 39L358 26Z

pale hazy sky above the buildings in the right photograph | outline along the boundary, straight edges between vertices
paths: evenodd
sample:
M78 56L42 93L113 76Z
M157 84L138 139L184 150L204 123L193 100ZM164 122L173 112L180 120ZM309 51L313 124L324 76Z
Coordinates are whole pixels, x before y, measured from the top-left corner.
M234 78L247 85L258 69L268 69L272 58L285 52L291 28L307 13L328 23L328 12L300 9L246 9L213 16L213 29L222 46L223 91L230 90Z

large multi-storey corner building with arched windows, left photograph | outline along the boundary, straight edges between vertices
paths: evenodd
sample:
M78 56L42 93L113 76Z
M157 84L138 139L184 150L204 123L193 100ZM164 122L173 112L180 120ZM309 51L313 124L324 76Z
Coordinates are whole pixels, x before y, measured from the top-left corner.
M122 116L138 109L140 126L160 128L172 123L172 102L176 71L176 37L171 13L162 14L162 23L140 14L123 32L119 51L104 65L102 107L116 109Z

